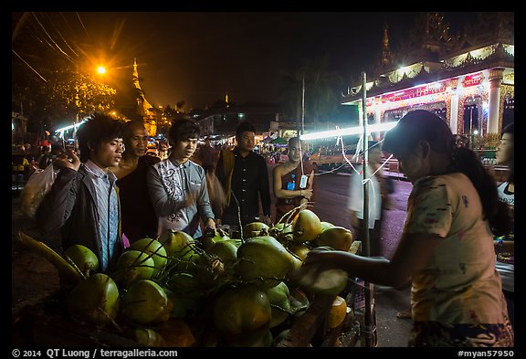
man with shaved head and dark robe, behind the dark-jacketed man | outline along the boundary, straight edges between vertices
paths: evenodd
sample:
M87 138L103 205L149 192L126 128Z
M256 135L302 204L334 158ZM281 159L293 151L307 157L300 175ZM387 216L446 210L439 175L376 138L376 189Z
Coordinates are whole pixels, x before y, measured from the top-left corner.
M161 159L146 155L149 136L142 121L124 123L123 136L126 151L119 165L110 170L117 176L121 196L122 234L132 243L157 235L157 216L148 194L146 174Z

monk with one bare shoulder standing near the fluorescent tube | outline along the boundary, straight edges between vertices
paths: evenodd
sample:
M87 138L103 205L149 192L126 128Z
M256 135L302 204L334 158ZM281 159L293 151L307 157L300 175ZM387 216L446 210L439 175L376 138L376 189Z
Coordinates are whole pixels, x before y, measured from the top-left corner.
M287 145L289 161L274 167L272 172L274 195L276 196L276 222L290 210L312 204L314 198L314 166L308 160L300 163L303 143L299 137L289 139ZM302 175L307 176L306 185L301 188ZM291 218L293 215L290 216Z

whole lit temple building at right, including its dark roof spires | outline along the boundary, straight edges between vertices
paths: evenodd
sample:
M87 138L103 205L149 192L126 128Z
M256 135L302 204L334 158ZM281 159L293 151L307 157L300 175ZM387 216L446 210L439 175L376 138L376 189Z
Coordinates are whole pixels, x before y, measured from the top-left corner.
M401 48L395 56L385 27L381 61L365 81L368 123L424 109L447 121L453 133L468 136L473 148L495 147L501 129L514 121L513 16L481 13L454 37L443 16L426 13L408 37L412 50ZM407 65L395 69L395 57ZM362 96L362 83L356 84L341 103L361 106ZM382 134L375 135L379 140Z

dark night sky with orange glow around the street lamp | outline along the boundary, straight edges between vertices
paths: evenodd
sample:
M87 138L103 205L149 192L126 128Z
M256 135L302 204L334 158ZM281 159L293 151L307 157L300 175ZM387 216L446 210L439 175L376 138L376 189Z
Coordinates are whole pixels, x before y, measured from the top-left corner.
M54 37L66 52L66 43L77 43L89 58L103 57L109 81L129 80L137 58L147 100L173 107L184 100L189 111L225 99L226 92L231 102L277 103L280 70L298 68L301 58L327 55L346 88L379 56L384 22L396 47L418 13L63 13L49 22L50 14L35 13L49 34L60 34ZM445 13L454 31L473 18ZM35 16L27 21L35 23Z

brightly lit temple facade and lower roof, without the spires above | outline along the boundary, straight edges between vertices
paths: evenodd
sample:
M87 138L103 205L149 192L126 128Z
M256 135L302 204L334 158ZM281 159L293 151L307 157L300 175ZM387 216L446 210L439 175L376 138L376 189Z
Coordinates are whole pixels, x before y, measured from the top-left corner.
M360 105L361 86L350 92L342 104ZM416 109L434 111L453 133L496 146L500 130L513 121L514 46L473 48L381 75L366 84L366 107L371 124L396 121ZM378 140L381 135L376 133Z

